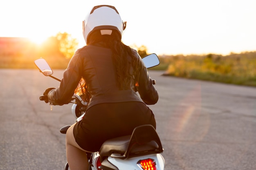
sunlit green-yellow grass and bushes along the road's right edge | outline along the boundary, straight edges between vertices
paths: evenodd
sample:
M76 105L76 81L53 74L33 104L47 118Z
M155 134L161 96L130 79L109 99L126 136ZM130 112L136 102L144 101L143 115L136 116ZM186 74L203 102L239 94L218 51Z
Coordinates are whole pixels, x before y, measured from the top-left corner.
M256 86L256 52L222 55L176 55L165 57L164 75L227 84Z

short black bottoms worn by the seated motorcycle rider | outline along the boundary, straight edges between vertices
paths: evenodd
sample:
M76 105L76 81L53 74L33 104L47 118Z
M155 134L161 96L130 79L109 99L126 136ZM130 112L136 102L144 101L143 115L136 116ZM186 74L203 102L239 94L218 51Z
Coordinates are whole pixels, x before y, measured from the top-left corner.
M104 141L131 135L135 127L151 124L156 128L152 111L142 102L97 104L74 126L74 138L81 148L99 151Z

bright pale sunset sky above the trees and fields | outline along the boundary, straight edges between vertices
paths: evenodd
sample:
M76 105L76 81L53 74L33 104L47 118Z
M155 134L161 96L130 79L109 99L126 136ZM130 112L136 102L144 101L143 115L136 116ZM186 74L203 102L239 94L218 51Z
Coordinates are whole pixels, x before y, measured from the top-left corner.
M43 42L67 32L85 45L92 7L115 6L127 21L122 41L157 55L256 51L256 0L0 0L0 37Z

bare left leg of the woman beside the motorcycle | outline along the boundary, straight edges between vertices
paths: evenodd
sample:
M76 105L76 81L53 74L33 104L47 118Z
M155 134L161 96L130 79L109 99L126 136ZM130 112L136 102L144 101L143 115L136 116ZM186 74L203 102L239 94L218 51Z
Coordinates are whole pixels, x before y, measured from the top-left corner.
M66 156L70 170L88 170L86 151L77 143L73 135L74 124L68 128L66 134Z

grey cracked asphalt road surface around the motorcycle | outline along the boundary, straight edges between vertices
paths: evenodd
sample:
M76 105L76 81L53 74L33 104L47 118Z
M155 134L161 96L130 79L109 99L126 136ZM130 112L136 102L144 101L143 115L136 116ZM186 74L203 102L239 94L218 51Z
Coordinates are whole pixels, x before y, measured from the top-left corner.
M54 71L58 78L63 71ZM256 170L256 88L161 76L157 120L166 170ZM62 126L72 104L39 101L58 82L37 70L0 69L0 170L63 170Z

